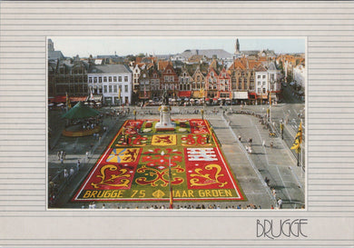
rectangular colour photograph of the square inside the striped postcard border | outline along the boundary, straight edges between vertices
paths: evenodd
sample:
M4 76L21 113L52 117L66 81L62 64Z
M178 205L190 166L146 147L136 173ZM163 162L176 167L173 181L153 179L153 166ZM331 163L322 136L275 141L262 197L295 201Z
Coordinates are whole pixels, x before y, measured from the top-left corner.
M47 37L47 208L306 209L306 37Z

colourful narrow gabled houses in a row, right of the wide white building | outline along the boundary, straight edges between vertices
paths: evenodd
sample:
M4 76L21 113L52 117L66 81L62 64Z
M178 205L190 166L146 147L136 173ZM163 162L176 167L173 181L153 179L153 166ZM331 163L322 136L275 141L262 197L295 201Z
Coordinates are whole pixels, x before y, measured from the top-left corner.
M274 100L280 94L280 70L275 63L267 66L260 61L246 57L237 58L231 66L218 64L185 64L182 68L172 62L136 64L132 68L134 92L140 100L156 99L163 90L170 98L196 98L206 101L235 100L251 102L268 99L273 93Z

